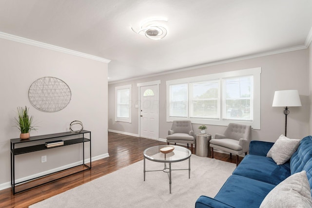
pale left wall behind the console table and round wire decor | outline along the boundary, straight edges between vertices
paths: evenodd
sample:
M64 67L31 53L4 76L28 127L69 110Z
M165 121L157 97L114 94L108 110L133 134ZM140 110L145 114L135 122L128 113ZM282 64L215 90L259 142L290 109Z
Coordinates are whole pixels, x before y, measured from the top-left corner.
M92 157L108 156L107 142L107 63L64 54L11 40L0 39L0 189L10 179L10 139L19 138L14 126L18 106L28 106L38 131L31 136L68 132L74 120L92 132ZM57 77L70 87L71 101L63 110L45 113L28 99L31 84L44 76ZM16 157L16 177L27 177L82 159L80 144ZM47 162L41 163L41 156ZM88 158L88 156L87 156Z

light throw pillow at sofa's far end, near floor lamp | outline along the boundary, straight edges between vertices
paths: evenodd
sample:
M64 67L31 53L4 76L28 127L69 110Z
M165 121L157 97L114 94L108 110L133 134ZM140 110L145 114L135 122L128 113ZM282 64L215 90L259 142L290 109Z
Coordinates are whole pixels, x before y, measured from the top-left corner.
M267 153L267 157L272 157L277 165L283 165L292 157L299 144L300 139L290 139L282 134Z

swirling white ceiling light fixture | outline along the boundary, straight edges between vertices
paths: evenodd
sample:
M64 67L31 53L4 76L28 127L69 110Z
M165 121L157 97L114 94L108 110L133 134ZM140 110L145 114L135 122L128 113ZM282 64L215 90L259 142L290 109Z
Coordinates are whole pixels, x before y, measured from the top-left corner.
M168 22L165 18L148 19L142 22L140 29L136 32L132 27L132 31L146 36L147 38L158 40L165 38L167 35L167 28L163 25L164 22Z

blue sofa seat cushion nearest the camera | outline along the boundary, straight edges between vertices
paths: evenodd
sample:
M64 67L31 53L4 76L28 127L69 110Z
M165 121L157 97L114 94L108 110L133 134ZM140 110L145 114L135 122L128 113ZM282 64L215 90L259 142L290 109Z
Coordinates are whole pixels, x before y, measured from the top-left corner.
M215 196L215 200L235 208L258 208L274 187L244 176L231 175Z

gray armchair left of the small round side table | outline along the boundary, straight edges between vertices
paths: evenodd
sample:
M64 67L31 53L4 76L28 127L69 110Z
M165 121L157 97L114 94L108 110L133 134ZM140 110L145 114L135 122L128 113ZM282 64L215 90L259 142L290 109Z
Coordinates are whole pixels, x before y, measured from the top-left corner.
M193 152L193 144L195 144L194 131L191 121L174 121L171 130L168 131L167 143L187 143L187 148L191 144Z

